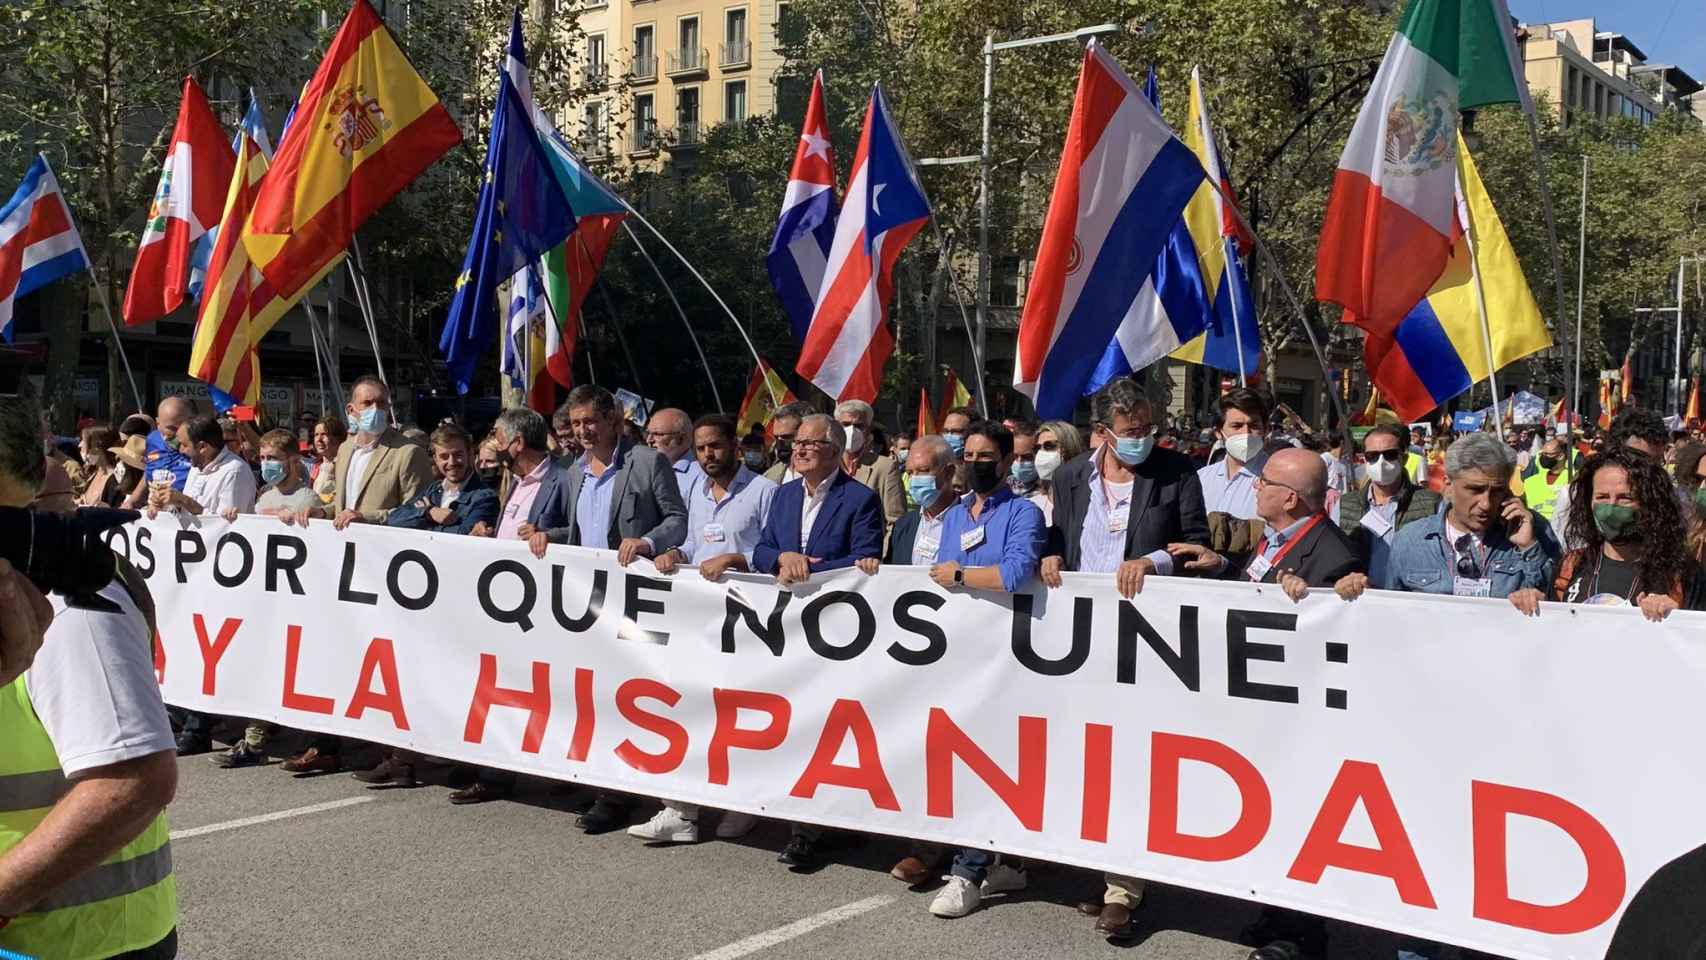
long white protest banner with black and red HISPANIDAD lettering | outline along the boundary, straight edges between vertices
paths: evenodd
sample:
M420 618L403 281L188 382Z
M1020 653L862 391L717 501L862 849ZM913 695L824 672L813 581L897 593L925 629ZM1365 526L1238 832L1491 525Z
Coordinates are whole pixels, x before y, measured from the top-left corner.
M1088 575L1005 597L920 568L786 592L271 518L113 544L194 709L1505 957L1697 911L1636 897L1706 858L1697 614L1163 578L1123 602Z

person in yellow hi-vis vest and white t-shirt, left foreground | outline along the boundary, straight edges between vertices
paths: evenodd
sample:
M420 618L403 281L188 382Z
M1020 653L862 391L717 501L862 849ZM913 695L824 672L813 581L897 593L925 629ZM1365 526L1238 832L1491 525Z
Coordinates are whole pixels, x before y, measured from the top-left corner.
M9 530L32 520L22 508L44 476L32 408L0 397ZM0 570L3 674L12 672L15 607L41 612L9 602L22 588L9 573ZM34 662L0 687L0 948L73 960L176 957L162 815L176 788L172 728L138 600L119 581L77 600L55 593Z

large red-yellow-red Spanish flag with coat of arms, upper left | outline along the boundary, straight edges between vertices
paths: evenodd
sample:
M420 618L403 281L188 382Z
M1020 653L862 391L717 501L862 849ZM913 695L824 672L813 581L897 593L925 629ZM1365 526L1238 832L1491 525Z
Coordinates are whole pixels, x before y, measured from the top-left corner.
M242 232L266 293L297 302L375 210L461 142L379 14L355 0Z

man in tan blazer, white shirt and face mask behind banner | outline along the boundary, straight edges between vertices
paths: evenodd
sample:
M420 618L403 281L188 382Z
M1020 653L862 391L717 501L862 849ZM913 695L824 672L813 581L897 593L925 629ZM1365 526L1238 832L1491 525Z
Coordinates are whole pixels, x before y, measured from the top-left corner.
M432 483L432 457L391 425L391 389L379 377L355 382L346 418L350 440L338 448L331 506L297 513L300 523L310 517L331 517L338 530L350 523L384 523Z

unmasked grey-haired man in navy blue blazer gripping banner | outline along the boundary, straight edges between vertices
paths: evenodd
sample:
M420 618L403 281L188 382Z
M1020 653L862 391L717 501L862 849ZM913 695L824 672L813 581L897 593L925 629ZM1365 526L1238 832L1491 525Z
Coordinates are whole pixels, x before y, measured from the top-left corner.
M769 518L752 547L752 570L781 585L824 570L858 564L877 571L887 518L877 491L841 469L846 433L833 418L812 414L793 435L793 469L769 503ZM862 563L863 561L863 563Z

